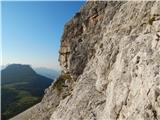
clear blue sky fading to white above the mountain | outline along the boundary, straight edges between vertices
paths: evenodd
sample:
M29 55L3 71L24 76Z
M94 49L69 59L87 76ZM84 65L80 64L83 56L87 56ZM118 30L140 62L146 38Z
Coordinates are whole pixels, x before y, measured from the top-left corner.
M84 1L2 2L2 63L59 69L63 28Z

